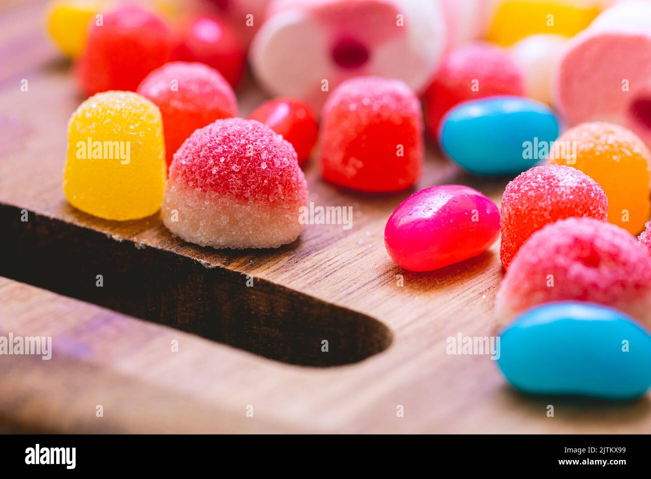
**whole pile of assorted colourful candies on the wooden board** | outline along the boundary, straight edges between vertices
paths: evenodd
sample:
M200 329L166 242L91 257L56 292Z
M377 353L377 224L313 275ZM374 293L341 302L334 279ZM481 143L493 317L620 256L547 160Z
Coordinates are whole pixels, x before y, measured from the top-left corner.
M430 186L391 214L406 270L501 237L499 366L534 394L651 386L651 1L57 1L48 31L92 95L70 118L64 194L107 220L277 248L303 231L301 166L409 192L425 136L512 179L499 208ZM273 95L237 118L247 60ZM320 123L319 123L320 121ZM397 201L396 201L397 203ZM640 235L639 239L635 235Z

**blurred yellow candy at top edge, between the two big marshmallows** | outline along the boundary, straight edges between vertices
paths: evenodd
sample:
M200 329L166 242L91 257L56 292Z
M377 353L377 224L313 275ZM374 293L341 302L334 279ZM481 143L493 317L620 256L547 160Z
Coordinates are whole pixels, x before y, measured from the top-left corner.
M600 12L600 0L499 0L488 40L510 46L528 35L574 36Z

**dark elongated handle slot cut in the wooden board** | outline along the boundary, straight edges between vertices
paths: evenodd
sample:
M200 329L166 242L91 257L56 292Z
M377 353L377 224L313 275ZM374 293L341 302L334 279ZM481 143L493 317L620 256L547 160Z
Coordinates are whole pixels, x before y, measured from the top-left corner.
M391 344L389 328L367 315L257 278L247 287L242 274L184 255L33 212L28 222L20 216L0 205L1 276L290 364L350 364Z

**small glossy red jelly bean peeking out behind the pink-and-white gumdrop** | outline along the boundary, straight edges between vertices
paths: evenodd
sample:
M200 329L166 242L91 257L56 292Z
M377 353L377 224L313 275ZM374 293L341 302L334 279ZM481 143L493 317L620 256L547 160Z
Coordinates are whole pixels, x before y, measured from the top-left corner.
M307 103L291 98L276 98L258 106L249 119L266 124L292 143L299 164L310 157L319 125Z

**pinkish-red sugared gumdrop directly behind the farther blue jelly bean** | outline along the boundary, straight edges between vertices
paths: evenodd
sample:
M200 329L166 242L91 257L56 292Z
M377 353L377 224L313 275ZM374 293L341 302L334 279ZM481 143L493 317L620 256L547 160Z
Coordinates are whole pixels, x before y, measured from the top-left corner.
M460 46L443 59L434 82L425 93L428 131L432 138L437 138L445 113L466 100L523 94L523 74L508 51L484 42Z

